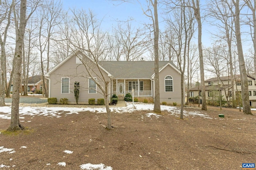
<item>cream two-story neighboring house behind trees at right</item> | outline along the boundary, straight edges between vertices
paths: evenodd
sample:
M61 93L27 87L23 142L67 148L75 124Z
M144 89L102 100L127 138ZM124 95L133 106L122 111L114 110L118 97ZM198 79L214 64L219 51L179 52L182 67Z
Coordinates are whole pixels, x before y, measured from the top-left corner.
M234 77L235 77L234 82L231 81L230 76L220 77L220 80L218 80L218 78L216 78L216 77L205 80L204 82L205 82L206 100L208 100L208 101L216 100L219 96L219 90L225 100L227 100L226 94L228 96L229 101L236 99L238 96L237 94L241 94L241 82L240 82L240 75L236 75ZM255 78L253 78L251 76L247 76L247 78L248 78L250 106L256 107ZM222 84L222 82L223 82L223 84ZM234 92L235 92L234 98L231 95L232 86L234 87ZM198 93L199 93L200 99L202 99L201 90L202 90L201 86L199 86L199 90L198 90L197 86L191 88L189 90L190 97L196 97L196 96L198 96ZM226 94L225 94L225 91L226 91Z

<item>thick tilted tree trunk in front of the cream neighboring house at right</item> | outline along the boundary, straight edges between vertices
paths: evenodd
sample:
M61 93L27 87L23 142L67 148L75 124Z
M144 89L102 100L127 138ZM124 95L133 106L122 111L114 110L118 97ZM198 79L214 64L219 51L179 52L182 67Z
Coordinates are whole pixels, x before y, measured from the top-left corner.
M240 66L241 74L241 88L242 88L242 99L243 99L243 111L245 114L252 115L250 101L249 101L249 91L248 91L248 79L246 74L246 68L244 64L244 54L242 48L242 40L240 33L240 9L239 9L239 0L232 0L233 4L236 7L235 10L235 29L236 29L236 43L238 51L238 61Z

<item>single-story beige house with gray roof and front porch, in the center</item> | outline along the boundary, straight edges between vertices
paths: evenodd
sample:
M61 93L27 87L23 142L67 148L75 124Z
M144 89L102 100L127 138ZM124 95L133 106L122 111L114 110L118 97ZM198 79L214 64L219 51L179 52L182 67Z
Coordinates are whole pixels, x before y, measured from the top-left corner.
M90 79L86 67L79 58L90 64L90 71L96 80L102 82L102 77L108 81L109 99L112 94L124 98L132 94L139 101L145 98L149 102L154 99L154 61L99 61L100 70L96 63L83 52L77 51L46 73L49 79L49 97L68 98L69 104L75 104L74 82L80 82L79 104L88 104L88 99L103 98L96 83ZM101 76L102 75L102 76ZM172 104L181 102L181 74L170 61L159 62L160 102Z

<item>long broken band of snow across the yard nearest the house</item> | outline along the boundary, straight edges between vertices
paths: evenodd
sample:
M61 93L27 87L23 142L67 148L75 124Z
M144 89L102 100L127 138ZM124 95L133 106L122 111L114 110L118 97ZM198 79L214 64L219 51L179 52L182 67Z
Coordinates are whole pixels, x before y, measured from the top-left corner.
M116 113L126 113L126 112L132 112L136 110L149 110L153 111L154 105L153 104L143 104L143 103L136 103L134 106L132 105L132 102L126 102L126 107L111 107L111 111L114 111ZM67 116L69 114L78 114L82 111L90 111L93 113L106 113L106 108L104 107L84 107L84 108L78 108L78 107L19 107L20 108L20 118L24 119L25 115L29 116L35 116L35 115L42 115L46 117L62 117ZM180 114L180 108L174 107L174 106L163 106L161 105L161 110L168 111L170 115L179 115ZM62 115L63 113L65 115ZM153 114L153 113L150 113ZM212 119L208 115L206 115L203 112L200 111L184 111L184 116L192 115L192 116L200 116L208 119ZM151 115L149 115L151 116ZM160 115L155 115L160 116ZM1 107L0 112L0 119L11 119L11 106L4 106ZM30 121L28 121L30 122Z

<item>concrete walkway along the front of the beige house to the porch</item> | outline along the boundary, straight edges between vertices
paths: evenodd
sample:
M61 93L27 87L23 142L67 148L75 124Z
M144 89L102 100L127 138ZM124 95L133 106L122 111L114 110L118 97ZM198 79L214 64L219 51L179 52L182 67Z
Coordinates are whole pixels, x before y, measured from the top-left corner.
M27 105L28 106L28 105ZM47 106L47 107L105 107L105 105L76 105L76 104L67 104L67 105L62 105L62 104L48 104L47 103L40 103L40 104L30 104L29 106ZM126 103L124 100L118 100L116 106L110 105L109 107L126 107Z

